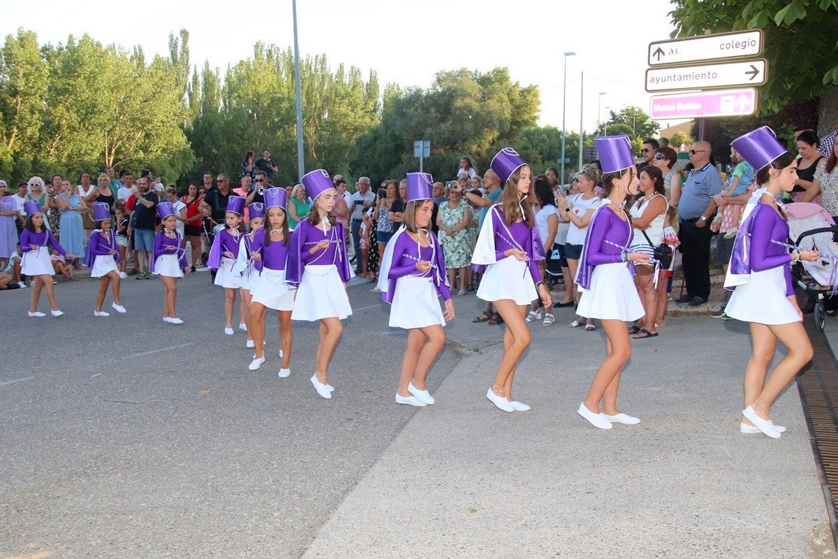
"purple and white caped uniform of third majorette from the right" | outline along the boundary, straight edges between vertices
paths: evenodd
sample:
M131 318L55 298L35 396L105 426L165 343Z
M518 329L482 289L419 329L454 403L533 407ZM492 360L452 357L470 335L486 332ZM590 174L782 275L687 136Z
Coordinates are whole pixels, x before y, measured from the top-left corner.
M504 256L509 249L524 251L529 261ZM538 261L544 258L544 243L538 227L529 227L525 221L506 225L503 206L493 205L483 222L472 256L474 270L482 272L485 267L477 290L478 298L492 302L512 299L518 305L530 304L538 298L535 291L535 283L541 282Z

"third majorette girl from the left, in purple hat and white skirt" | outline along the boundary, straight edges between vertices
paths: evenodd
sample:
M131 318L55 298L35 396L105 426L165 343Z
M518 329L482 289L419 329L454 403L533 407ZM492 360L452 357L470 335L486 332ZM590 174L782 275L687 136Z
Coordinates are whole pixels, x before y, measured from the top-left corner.
M175 311L175 299L178 297L178 277L189 273L186 264L186 252L181 248L181 239L177 230L177 218L174 208L168 202L158 204L158 216L161 229L154 237L151 272L163 282L163 322L183 324Z

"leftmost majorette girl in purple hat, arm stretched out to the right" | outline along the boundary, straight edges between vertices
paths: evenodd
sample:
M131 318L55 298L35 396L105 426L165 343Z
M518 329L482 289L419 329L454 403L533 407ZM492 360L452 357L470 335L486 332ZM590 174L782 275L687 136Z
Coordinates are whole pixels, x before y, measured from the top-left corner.
M54 268L49 258L47 245L58 251L61 256L72 259L75 258L75 255L66 252L46 228L44 210L38 200L27 200L23 203L23 210L25 210L27 217L26 225L23 225L23 232L20 235L20 249L23 251L20 271L27 276L32 276L32 298L29 300L29 316L46 316L38 311L38 299L41 297L42 288L47 292L52 315L56 318L63 316L64 313L58 308L58 303L55 303L52 279Z

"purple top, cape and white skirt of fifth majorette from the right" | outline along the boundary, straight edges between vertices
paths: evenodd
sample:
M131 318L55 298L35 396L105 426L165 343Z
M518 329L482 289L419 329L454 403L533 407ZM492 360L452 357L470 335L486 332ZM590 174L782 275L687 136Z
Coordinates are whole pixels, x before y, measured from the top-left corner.
M324 239L328 239L328 247L312 254L309 250ZM350 277L344 228L335 224L323 231L308 219L300 221L291 236L285 268L286 282L297 287L291 318L314 321L348 317L352 307L344 283Z

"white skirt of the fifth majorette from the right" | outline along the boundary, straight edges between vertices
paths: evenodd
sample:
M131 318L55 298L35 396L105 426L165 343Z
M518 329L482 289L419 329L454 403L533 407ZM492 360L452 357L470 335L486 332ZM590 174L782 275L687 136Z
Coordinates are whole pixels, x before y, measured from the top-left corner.
M313 322L329 317L343 319L350 314L352 307L349 306L349 297L338 268L334 264L305 267L291 318Z

